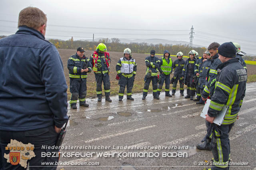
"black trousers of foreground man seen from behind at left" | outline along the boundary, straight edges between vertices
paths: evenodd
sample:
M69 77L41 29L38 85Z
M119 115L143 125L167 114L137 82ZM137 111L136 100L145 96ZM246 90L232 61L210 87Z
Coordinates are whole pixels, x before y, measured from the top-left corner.
M10 150L6 150L6 146L10 143L11 140L17 140L23 144L30 143L34 145L33 152L36 156L28 160L30 170L56 170L57 166L55 165L56 162L58 162L58 157L42 157L41 152L58 152L58 149L42 149L42 145L55 145L57 138L58 133L55 132L54 126L19 132L0 130L0 170L25 170L25 168L20 164L12 165L7 162L6 158L4 158L4 154L10 154ZM24 148L24 151L25 150L26 148ZM17 152L17 150L11 151ZM28 152L25 153L25 155L29 155ZM22 154L20 154L20 159L21 158ZM49 165L42 166L42 162L53 162L53 165L52 167Z

